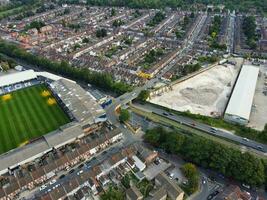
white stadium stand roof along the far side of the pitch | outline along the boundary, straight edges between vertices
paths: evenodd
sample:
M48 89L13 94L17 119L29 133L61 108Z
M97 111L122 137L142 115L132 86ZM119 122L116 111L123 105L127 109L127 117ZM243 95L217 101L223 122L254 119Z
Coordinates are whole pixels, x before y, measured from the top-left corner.
M33 70L26 70L22 72L12 73L5 76L0 76L0 87L12 85L15 83L28 81L37 78Z

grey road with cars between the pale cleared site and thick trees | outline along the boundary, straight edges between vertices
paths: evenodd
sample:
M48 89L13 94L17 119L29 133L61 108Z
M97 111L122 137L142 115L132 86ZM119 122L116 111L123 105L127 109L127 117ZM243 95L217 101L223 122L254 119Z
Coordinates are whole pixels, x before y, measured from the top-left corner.
M264 155L267 155L267 145L255 142L253 140L246 140L240 136L231 134L231 133L223 131L223 130L215 129L212 126L197 122L197 121L192 120L188 117L170 114L163 109L156 108L156 107L152 106L151 104L146 104L146 105L138 104L138 107L149 110L155 114L158 114L158 115L163 116L165 118L171 119L171 120L176 121L178 123L190 126L192 128L195 128L195 129L198 129L201 131L204 131L204 132L209 133L211 135L214 135L217 137L223 137L223 138L229 139L231 141L237 142L243 146L246 146L246 147L249 147L252 149L256 149L257 151L264 153ZM260 149L259 147L261 147L262 149Z

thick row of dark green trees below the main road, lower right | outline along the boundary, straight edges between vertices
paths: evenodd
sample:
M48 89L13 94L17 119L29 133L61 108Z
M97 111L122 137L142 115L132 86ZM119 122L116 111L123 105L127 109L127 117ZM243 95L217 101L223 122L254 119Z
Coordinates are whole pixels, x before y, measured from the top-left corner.
M148 130L146 142L167 153L181 155L204 168L215 170L251 186L266 184L267 162L249 153L242 153L217 142L196 135L183 135L166 131L162 127Z

